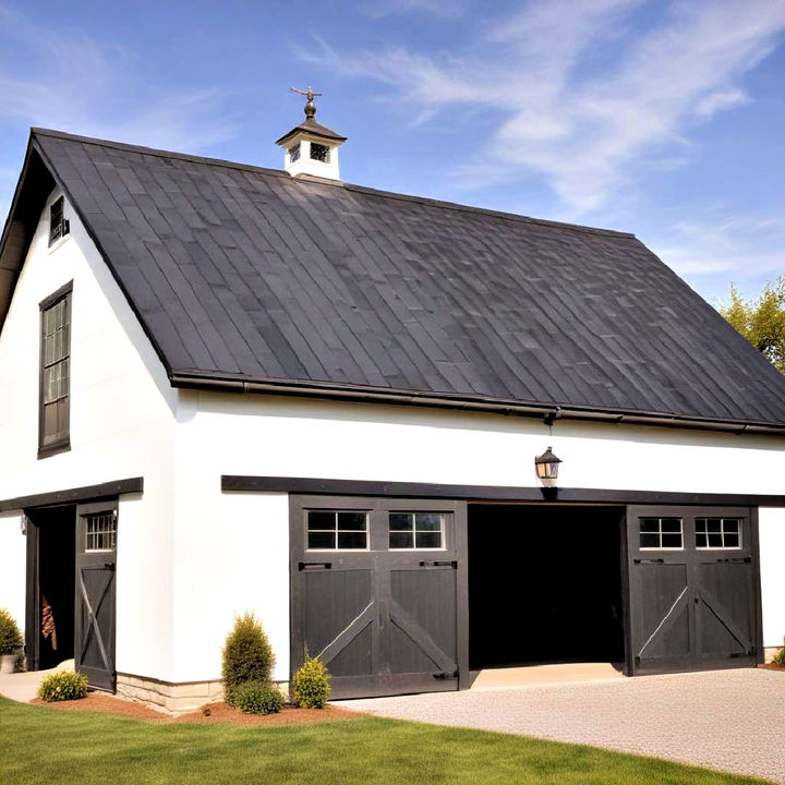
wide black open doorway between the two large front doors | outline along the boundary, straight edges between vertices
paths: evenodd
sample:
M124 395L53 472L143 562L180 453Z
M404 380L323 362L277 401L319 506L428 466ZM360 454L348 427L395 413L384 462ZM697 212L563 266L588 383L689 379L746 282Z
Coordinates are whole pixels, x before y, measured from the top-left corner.
M624 509L469 506L472 669L625 660Z

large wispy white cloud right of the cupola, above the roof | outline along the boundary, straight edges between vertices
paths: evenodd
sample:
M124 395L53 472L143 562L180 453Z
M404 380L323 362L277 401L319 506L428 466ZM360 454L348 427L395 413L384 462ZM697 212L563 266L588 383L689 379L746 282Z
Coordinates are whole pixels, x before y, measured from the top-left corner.
M641 32L630 20L643 7L659 16ZM534 172L583 214L639 167L686 159L693 125L749 102L742 77L783 31L785 0L535 0L461 51L323 43L301 57L386 84L412 122L458 105L493 112L495 131L462 181Z

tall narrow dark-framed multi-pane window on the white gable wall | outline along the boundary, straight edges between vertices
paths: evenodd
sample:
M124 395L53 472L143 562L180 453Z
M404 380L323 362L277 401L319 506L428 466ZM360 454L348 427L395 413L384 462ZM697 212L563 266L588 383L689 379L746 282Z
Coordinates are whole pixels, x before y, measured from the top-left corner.
M39 457L70 446L71 289L69 283L40 304Z

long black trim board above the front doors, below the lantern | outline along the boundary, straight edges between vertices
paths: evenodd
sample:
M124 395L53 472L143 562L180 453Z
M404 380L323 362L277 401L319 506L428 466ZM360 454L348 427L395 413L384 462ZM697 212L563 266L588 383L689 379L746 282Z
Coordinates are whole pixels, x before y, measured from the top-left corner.
M540 488L509 485L439 485L436 483L327 480L318 478L245 476L224 474L221 491L330 494L334 496L401 496L483 502L547 502L572 504L679 504L730 507L785 507L785 495L712 494L611 488ZM2 507L0 507L2 509Z

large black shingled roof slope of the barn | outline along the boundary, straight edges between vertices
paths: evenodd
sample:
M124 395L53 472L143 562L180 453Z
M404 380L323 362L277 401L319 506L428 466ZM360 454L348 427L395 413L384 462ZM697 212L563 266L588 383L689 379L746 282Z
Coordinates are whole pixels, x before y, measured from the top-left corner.
M785 426L785 377L630 234L51 131L33 147L173 378Z

